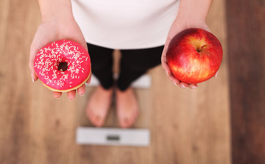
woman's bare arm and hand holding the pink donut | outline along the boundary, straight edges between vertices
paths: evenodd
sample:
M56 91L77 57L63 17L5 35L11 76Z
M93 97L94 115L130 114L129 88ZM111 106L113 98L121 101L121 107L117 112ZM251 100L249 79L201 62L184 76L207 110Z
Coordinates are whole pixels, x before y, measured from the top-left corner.
M86 50L86 41L82 31L79 29L75 18L73 17L72 5L70 0L38 0L42 22L39 25L33 41L29 56L29 68L33 82L38 77L33 68L34 58L41 47L51 43L54 40L70 39L81 44ZM90 80L88 80L90 82ZM84 95L85 85L79 87L77 92ZM76 91L68 91L67 96L70 100L75 98ZM61 97L61 92L53 92L55 98Z

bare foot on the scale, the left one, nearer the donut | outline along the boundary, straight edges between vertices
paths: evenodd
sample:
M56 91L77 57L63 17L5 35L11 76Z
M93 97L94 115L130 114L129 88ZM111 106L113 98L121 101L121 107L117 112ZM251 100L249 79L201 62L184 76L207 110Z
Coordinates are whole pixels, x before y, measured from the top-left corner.
M86 116L94 126L100 127L105 123L109 107L112 103L113 89L99 86L89 98L86 106Z

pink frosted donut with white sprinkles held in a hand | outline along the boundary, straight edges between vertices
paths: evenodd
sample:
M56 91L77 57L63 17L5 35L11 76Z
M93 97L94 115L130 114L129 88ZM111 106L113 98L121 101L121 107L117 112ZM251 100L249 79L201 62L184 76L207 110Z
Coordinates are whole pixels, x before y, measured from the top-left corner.
M72 40L57 40L45 45L34 59L36 75L52 91L72 91L91 75L89 53Z

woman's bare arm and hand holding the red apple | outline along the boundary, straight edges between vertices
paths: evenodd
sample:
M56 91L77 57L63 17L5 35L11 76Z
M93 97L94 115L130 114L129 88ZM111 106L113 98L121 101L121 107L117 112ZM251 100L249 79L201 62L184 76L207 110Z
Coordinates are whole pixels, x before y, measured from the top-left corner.
M176 79L176 77L174 77L174 75L172 75L172 72L167 65L167 47L172 38L184 29L194 27L209 31L205 20L210 6L211 0L181 0L179 3L179 13L172 23L172 27L169 29L161 57L162 68L164 68L169 79L172 80L174 84L179 85L181 88L189 87L190 89L195 89L197 88L197 84L186 84L184 82L180 82Z

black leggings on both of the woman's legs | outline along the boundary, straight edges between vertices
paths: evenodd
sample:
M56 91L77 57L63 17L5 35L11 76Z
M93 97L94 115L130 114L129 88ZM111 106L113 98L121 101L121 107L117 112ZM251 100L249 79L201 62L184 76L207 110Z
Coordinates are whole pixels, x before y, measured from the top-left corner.
M113 49L91 45L87 43L91 57L91 69L100 84L109 89L113 83L112 52ZM147 70L161 64L161 54L164 46L121 50L121 66L117 87L121 91L126 90L138 77L144 75Z

